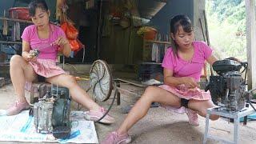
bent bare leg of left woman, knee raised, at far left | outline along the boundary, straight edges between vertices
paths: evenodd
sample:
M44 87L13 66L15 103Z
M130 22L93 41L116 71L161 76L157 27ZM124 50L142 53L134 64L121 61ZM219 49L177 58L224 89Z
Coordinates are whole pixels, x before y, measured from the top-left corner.
M37 78L34 69L22 56L14 55L10 59L10 78L19 102L25 102L25 82L33 82Z

